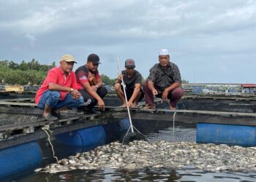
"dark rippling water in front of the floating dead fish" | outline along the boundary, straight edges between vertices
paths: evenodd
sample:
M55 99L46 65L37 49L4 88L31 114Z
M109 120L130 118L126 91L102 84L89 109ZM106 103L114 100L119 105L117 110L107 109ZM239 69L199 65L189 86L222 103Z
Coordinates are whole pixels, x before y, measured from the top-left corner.
M25 181L255 181L256 173L206 173L194 168L185 170L151 169L125 171L125 170L73 170L69 173L45 174L39 173L23 178Z

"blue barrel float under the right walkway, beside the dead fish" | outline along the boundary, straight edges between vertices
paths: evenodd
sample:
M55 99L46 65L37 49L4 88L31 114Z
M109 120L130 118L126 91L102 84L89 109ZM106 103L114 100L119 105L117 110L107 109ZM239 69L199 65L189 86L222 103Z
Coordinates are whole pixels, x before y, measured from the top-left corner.
M233 124L197 123L197 143L256 146L256 127Z

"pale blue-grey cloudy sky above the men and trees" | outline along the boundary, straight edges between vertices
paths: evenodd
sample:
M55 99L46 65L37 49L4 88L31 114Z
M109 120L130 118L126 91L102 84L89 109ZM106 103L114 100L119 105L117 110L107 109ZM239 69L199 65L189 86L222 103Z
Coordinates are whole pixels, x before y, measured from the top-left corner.
M118 55L146 78L167 48L189 82L256 83L255 0L0 0L0 40L0 60L16 63L96 53L116 78Z

